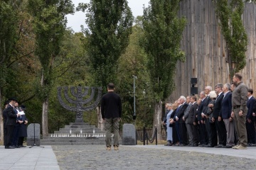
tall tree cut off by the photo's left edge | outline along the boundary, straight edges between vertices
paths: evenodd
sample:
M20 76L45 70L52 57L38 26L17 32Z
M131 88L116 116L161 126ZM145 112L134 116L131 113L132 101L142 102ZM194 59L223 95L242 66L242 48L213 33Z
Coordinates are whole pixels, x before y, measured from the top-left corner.
M13 62L12 57L16 53L15 45L18 41L19 12L22 1L3 0L0 1L0 106L6 98L6 81L8 77L8 67ZM3 135L3 118L0 107L0 140Z

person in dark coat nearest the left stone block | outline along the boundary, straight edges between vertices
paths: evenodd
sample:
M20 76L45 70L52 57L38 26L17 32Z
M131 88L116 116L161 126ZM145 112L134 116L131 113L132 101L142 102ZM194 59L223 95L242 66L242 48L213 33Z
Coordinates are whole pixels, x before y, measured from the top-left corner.
M21 105L20 110L24 111L26 109L25 106ZM26 115L21 115L21 128L19 132L19 138L18 138L18 147L25 147L23 146L24 137L28 137L26 125L28 124L28 119L26 118Z

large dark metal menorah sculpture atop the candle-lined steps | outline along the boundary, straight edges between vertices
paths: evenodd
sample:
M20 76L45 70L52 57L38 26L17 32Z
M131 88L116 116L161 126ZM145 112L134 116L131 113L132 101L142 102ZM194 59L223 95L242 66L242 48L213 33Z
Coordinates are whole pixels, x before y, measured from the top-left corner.
M67 103L63 101L63 98L61 96L61 91L64 88L64 96L65 99L68 101L68 103L71 103L75 106L68 106ZM97 91L97 98L94 103L92 103L90 106L85 106L87 103L92 102L93 98L95 98L95 89L98 89ZM75 93L76 89L76 93ZM83 91L83 89L85 89ZM82 112L84 111L90 111L93 108L96 108L97 105L100 103L100 98L102 95L102 87L91 87L91 94L89 98L83 99L85 96L89 94L90 87L88 86L71 86L70 87L70 93L76 98L75 100L73 98L70 98L68 96L68 86L59 86L58 87L58 100L63 106L63 108L67 109L68 111L75 111L75 123L83 123L82 120Z

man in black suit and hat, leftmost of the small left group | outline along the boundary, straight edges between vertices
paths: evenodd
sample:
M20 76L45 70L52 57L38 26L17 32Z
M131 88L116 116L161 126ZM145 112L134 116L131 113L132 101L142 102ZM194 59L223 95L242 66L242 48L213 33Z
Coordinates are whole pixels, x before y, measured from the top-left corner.
M16 125L16 119L20 114L16 114L14 111L15 98L9 98L9 105L6 108L7 120L6 120L6 145L5 149L14 149L11 146L11 141L14 137L14 127Z

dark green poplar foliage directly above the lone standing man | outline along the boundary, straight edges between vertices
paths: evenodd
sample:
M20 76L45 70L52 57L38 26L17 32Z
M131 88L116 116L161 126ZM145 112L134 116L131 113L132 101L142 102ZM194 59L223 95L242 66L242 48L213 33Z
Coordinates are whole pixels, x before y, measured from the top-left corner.
M86 4L85 49L95 76L95 85L106 92L117 80L117 60L124 53L132 33L132 12L126 0L91 0Z

